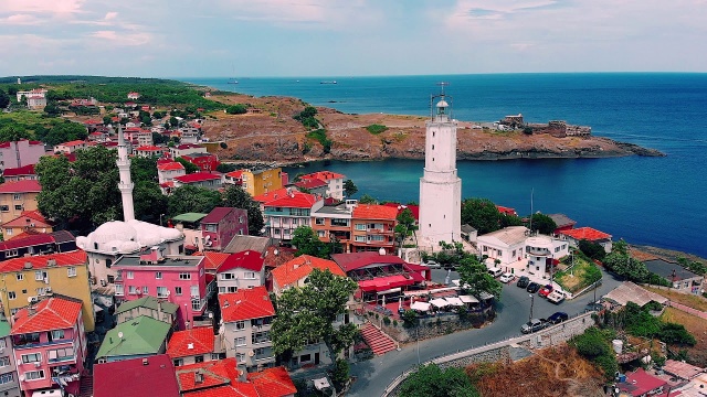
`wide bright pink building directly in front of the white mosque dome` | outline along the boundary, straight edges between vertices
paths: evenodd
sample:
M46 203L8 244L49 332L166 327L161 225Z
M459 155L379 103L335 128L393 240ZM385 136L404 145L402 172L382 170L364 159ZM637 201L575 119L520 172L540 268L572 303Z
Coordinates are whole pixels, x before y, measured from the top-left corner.
M141 255L124 255L113 265L117 271L117 303L145 296L157 297L179 305L177 324L190 329L194 321L209 321L207 279L201 256L162 256L152 247Z

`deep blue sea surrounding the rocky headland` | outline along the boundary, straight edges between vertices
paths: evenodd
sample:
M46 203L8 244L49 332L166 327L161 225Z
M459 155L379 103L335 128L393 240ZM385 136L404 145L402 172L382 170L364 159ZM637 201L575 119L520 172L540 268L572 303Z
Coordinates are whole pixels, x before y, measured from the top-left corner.
M657 149L663 158L458 161L463 197L531 212L563 213L614 239L707 258L707 74L571 73L376 77L181 78L254 96L297 97L347 114L430 115L431 95L452 115L495 121L566 120L595 136ZM323 82L336 84L321 84ZM444 86L440 83L446 83ZM285 171L345 174L361 194L419 201L423 161L320 161Z

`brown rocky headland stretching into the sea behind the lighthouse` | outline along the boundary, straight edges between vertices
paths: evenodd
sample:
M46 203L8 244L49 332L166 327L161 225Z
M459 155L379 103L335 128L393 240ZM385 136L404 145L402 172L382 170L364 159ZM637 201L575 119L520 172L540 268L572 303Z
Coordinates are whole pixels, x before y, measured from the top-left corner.
M213 95L211 99L228 105L244 104L250 109L245 115L212 112L213 118L203 124L203 132L211 141L225 143L225 149L219 149L223 160L296 163L324 159L424 159L425 117L342 114L317 107L316 119L330 140L329 148L325 148L320 138L293 119L293 115L306 106L297 98ZM526 133L521 129L500 131L482 125L460 120L460 160L665 155L654 149L598 136L556 137Z

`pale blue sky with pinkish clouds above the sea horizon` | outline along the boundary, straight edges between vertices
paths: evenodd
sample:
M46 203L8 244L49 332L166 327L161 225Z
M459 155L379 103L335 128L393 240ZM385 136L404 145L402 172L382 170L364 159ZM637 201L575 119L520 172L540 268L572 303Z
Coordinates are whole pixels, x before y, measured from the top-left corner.
M707 0L0 0L0 76L707 72Z

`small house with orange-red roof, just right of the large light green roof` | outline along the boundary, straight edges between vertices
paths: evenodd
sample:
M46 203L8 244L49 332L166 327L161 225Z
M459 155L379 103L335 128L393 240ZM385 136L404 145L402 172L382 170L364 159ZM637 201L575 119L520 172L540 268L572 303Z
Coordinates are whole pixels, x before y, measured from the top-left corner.
M220 341L217 343L217 340L219 336L214 336L211 326L177 331L167 342L167 355L176 367L225 358L225 353L221 357L217 352L222 345Z

